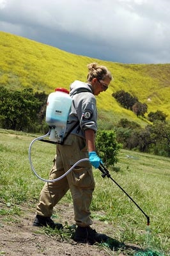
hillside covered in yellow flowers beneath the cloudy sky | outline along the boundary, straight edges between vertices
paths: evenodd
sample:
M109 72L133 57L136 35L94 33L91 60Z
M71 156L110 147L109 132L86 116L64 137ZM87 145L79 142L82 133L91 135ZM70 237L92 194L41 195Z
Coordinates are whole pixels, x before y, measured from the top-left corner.
M142 126L146 124L146 120L117 104L111 95L118 90L125 90L145 102L148 113L158 109L169 115L170 63L131 65L102 61L4 32L0 32L0 51L0 86L50 93L56 87L69 88L75 79L86 81L86 66L96 61L106 65L114 77L109 90L97 97L100 119L114 124L120 118L128 118Z

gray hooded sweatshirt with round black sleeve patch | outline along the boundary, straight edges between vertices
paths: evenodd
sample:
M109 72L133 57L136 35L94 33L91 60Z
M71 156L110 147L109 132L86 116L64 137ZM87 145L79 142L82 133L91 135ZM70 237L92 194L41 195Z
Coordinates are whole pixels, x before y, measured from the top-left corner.
M92 86L81 81L74 81L70 85L72 107L68 115L66 133L77 124L71 134L85 138L84 131L92 129L97 132L97 106Z

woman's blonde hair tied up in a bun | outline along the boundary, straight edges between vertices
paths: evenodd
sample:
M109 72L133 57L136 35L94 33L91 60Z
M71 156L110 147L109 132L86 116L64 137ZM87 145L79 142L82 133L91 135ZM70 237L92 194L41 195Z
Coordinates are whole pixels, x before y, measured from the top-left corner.
M98 80L111 79L111 72L105 66L99 66L96 62L89 63L88 67L88 76L87 81L91 82L93 78L97 78Z

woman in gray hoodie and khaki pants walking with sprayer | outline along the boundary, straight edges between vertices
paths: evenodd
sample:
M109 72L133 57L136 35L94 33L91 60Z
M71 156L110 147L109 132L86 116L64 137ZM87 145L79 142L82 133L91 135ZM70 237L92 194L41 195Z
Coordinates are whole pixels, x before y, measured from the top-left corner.
M111 72L97 63L88 65L87 82L74 81L70 86L72 109L68 116L66 137L63 145L57 144L54 165L49 179L56 179L63 175L80 159L88 158L89 162L81 162L72 172L58 182L47 182L40 194L40 202L36 208L36 218L33 226L47 226L62 228L59 223L51 220L53 207L70 189L75 215L74 241L81 243L102 242L107 239L104 234L98 234L90 225L90 205L95 181L92 166L98 168L102 161L95 148L95 134L97 132L97 106L95 96L107 90L112 80ZM92 165L92 166L91 166Z

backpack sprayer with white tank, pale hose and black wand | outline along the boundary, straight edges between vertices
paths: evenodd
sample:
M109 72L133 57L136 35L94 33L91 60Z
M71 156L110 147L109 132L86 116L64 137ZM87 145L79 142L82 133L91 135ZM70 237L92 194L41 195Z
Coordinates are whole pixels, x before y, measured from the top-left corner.
M47 180L47 179L43 179L42 177L40 177L36 173L35 168L33 167L33 164L31 161L31 147L32 147L33 143L35 143L36 140L53 143L53 144L56 144L56 143L62 144L64 139L66 138L66 136L68 136L68 134L70 134L70 132L73 130L73 128L77 125L77 124L75 124L73 126L73 128L65 136L68 114L70 112L70 108L72 105L72 97L70 97L70 95L68 95L68 94L69 94L69 92L65 88L56 88L55 92L52 92L49 94L49 97L47 99L47 109L46 109L46 116L45 116L45 121L47 122L47 124L49 125L49 128L50 128L49 132L47 132L47 134L45 134L43 136L36 138L29 145L29 163L31 165L31 169L35 173L36 177L38 177L40 180L43 180L44 182L56 182L58 180L61 180L68 173L70 173L73 170L73 168L75 168L75 166L77 166L77 164L79 164L83 161L89 161L88 158L80 159L75 164L73 164L73 166L65 174L63 174L63 175L61 175L61 177L58 177L57 179L53 179L53 180ZM47 136L49 136L49 140L43 140L43 138L45 138ZM105 178L106 176L108 178L110 178L125 193L125 195L127 195L128 198L130 198L130 200L132 200L132 202L137 206L137 208L141 212L143 212L144 216L147 219L147 225L150 225L150 217L148 215L146 215L146 213L143 211L143 209L141 209L141 207L139 207L139 205L137 205L137 203L132 199L132 197L129 196L128 193L123 188L121 188L121 186L114 179L112 179L111 175L109 174L109 171L104 167L104 165L102 163L100 163L100 166L98 167L98 169L100 170L100 172L103 173L102 174L103 178Z

